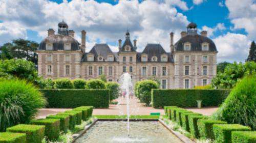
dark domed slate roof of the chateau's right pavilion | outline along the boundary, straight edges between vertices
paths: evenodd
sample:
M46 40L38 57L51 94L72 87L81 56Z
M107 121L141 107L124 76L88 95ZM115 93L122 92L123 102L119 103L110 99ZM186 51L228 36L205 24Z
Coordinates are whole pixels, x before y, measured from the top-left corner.
M206 42L209 44L208 51L217 51L215 43L209 39L208 37L201 36L198 34L190 35L182 37L176 44L175 44L175 51L184 51L184 43L189 42L191 43L190 51L202 51L202 43Z

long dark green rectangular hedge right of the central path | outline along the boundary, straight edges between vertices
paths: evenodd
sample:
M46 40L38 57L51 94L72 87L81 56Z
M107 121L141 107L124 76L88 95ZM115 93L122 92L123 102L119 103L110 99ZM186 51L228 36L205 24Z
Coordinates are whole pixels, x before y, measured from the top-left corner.
M197 100L202 106L218 106L228 96L230 90L152 90L152 106L197 107Z

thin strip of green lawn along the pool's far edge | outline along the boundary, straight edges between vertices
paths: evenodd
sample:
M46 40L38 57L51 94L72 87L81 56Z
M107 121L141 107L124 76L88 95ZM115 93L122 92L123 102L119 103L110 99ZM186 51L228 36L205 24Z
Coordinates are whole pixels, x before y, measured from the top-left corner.
M127 119L126 115L94 115L98 119ZM130 119L159 119L159 115L131 115Z

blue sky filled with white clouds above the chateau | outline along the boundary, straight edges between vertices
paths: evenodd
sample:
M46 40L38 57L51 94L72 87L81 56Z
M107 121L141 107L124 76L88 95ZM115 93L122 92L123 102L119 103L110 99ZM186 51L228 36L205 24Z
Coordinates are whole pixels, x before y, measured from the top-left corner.
M48 28L57 30L62 19L75 31L87 31L87 51L95 43L108 43L117 50L127 27L138 40L138 50L146 43L160 43L169 50L169 33L175 42L186 25L196 22L198 31L208 31L219 51L218 62L244 62L250 42L256 39L255 0L0 0L0 45L25 38L40 42Z

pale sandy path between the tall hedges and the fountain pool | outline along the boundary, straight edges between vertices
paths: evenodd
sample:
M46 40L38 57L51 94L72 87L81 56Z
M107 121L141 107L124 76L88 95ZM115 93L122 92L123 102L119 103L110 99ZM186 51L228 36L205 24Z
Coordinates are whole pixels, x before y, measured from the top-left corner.
M126 99L118 98L119 104L110 105L109 108L104 109L93 109L93 115L126 115ZM215 112L218 107L203 107L203 108L186 108L188 110L202 113L203 115L211 115ZM39 113L36 119L45 118L48 115L55 115L58 112L66 111L70 109L57 109L57 108L42 108L39 109ZM151 112L160 112L161 115L164 115L163 109L156 109L153 107L146 107L143 104L139 103L139 100L136 98L130 99L130 115L150 115Z

